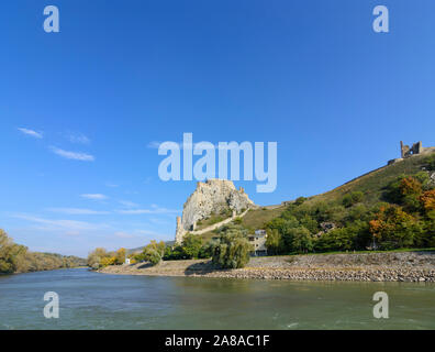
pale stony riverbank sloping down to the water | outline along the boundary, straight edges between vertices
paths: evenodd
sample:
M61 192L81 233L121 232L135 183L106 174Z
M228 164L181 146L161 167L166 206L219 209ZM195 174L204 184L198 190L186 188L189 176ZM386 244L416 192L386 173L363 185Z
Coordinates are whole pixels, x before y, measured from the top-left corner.
M435 252L252 257L244 268L219 270L210 260L108 266L107 274L291 280L435 282Z

